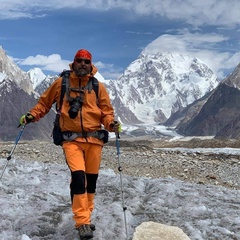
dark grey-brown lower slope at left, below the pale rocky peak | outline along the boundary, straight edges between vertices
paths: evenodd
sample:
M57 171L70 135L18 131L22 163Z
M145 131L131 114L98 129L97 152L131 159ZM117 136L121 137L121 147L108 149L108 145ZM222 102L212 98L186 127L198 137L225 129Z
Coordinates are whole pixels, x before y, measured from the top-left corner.
M11 81L0 81L0 140L13 141L20 129L19 119L21 115L37 102L34 95L27 94L23 89ZM22 139L50 139L55 113L49 112L49 116L38 123L28 124L22 135Z

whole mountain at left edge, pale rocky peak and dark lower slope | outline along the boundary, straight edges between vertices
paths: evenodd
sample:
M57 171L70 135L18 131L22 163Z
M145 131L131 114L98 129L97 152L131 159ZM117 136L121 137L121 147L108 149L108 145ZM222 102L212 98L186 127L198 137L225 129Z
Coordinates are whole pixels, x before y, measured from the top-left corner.
M19 119L37 102L31 79L0 48L0 140L13 141ZM29 124L22 139L49 139L55 113L50 111L38 123Z

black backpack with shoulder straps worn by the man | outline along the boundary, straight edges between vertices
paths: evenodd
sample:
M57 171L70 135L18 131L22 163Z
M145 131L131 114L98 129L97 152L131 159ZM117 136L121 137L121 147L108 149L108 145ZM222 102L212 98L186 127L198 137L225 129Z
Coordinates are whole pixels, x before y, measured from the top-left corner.
M69 76L70 76L71 72L72 72L71 70L64 70L63 72L61 72L59 74L59 77L62 77L62 87L61 87L61 95L60 95L59 105L56 104L57 114L56 114L56 118L54 121L54 127L53 127L53 131L52 131L53 143L57 146L62 145L62 143L64 141L63 134L61 132L60 125L59 125L59 118L61 115L63 98L64 98L64 95L65 95L66 90L69 85L68 80L69 80ZM89 93L91 92L92 89L94 90L96 97L97 97L97 104L98 104L98 80L95 77L91 77L89 79L85 89L87 89Z

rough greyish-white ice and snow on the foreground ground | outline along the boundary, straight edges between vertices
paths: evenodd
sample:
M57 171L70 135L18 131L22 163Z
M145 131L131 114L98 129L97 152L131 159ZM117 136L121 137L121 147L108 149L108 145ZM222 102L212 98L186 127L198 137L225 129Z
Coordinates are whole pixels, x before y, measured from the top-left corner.
M201 149L198 149L200 151ZM209 149L211 150L211 149ZM213 149L212 149L213 150ZM217 151L230 149L214 149ZM0 159L4 166L6 159ZM116 169L118 158L116 154ZM169 178L124 174L122 186L129 239L145 221L180 227L191 240L240 239L240 191ZM66 164L13 158L0 182L1 240L77 240ZM120 175L101 169L92 221L94 239L125 240Z

